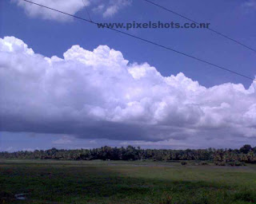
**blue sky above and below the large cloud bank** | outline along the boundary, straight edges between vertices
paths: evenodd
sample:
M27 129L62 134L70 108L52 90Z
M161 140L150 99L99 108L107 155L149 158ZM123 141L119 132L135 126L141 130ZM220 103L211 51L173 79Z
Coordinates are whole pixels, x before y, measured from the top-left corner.
M205 65L154 45L123 36L114 31L98 29L97 26L90 25L90 23L75 19L64 21L44 19L42 18L43 14L41 16L37 14L31 16L24 7L18 6L17 2L9 0L0 2L0 37L14 36L21 39L29 48L34 50L34 53L40 53L44 57L57 56L63 58L63 53L70 49L72 45L79 45L89 51L93 51L98 45L107 45L110 49L120 51L124 59L129 61L129 65L133 65L134 62L142 65L146 62L156 68L162 77L176 76L178 73L183 73L187 78L198 81L205 88L233 83L243 84L247 89L252 84L250 80L215 69L210 65ZM161 0L158 3L197 22L210 22L211 29L216 29L256 49L256 1L234 0L223 2L217 0L206 2L195 0L192 2L189 0ZM118 9L114 14L104 16L103 11L95 11L95 8L102 4L106 4L106 7L117 4L121 6L117 7ZM59 6L56 9L61 10L61 8L62 6ZM98 0L90 2L87 10L94 22L187 22L142 0L130 1L127 5L122 5L122 1L118 0L110 2ZM82 18L88 18L85 8L78 10L75 14ZM254 78L256 74L256 53L206 29L131 29L126 32L213 62L227 69L232 69L248 77ZM229 90L229 88L226 90ZM230 92L226 92L226 94L229 95ZM255 97L255 93L250 96L250 99L252 97ZM254 107L254 104L253 100L250 106ZM254 109L252 110L254 111ZM229 114L232 114L232 112ZM246 111L241 114L241 116L244 116ZM254 120L254 113L252 114L250 119ZM254 124L250 128L254 128ZM215 139L214 143L207 143L206 136L203 139L199 137L196 139L205 142L197 142L197 145L196 143L191 144L190 139L177 139L176 137L163 139L162 137L161 139L138 138L138 141L144 142L142 143L138 142L136 137L130 135L129 137L132 139L126 139L126 136L122 139L114 139L109 136L87 138L70 134L70 132L65 134L63 131L61 133L47 131L47 134L42 131L34 133L30 131L32 130L24 132L19 129L18 132L14 133L14 131L3 127L0 135L1 149L14 151L18 149L50 148L58 145L66 148L98 147L105 144L121 146L125 145L126 141L130 141L128 143L134 143L134 145L139 143L143 147L210 147L210 144L213 144L214 147L223 147L225 146L223 142L226 142L227 147L236 147L245 142L256 145L254 135L250 135L250 138L242 136L237 139L237 136L235 136L226 140ZM218 131L220 130L218 129ZM240 135L243 135L243 133ZM81 142L81 139L83 142ZM175 141L170 141L170 139ZM166 142L167 140L169 142ZM84 144L81 146L81 143Z

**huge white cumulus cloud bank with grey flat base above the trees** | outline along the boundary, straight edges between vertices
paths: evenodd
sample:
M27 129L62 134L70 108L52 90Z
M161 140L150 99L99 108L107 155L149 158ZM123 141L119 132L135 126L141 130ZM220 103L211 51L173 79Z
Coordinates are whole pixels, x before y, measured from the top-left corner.
M0 38L0 131L164 141L256 137L256 83L206 88L100 45L63 58ZM171 141L171 140L170 140Z

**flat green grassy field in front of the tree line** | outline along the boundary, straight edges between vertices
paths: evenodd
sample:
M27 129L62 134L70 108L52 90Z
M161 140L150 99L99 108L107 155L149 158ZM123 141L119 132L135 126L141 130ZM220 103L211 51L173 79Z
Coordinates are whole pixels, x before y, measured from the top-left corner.
M2 160L0 203L256 203L256 165Z

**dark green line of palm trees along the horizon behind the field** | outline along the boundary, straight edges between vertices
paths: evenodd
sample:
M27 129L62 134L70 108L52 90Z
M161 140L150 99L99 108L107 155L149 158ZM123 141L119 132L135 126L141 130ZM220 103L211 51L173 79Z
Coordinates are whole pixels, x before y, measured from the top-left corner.
M195 160L222 163L256 163L256 147L249 144L240 149L142 149L140 147L100 147L94 149L0 152L0 159L58 159L58 160Z

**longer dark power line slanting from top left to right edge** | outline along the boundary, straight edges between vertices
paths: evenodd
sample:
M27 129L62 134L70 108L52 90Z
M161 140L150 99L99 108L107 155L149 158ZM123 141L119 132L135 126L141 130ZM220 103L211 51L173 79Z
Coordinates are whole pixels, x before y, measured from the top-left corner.
M84 21L84 22L90 22L90 23L92 23L92 24L94 24L94 25L99 25L97 22L93 22L93 21L87 20L86 18L81 18L81 17L75 16L75 15L73 15L73 14L68 14L68 13L63 12L63 11L61 11L61 10L55 10L54 8L50 8L50 7L48 7L48 6L44 6L44 5L35 3L35 2L30 2L30 1L28 1L28 0L23 0L23 1L24 1L24 2L29 2L29 3L34 4L34 5L42 6L43 8L46 8L46 9L49 9L49 10L54 10L54 11L56 11L56 12L58 12L58 13L61 13L61 14L66 14L66 15L68 15L68 16L70 16L70 17L77 18L77 19L82 20L82 21ZM179 53L179 54L181 54L181 55L183 55L183 56L190 57L190 58L192 58L192 59L194 59L194 60L204 62L204 63L206 63L207 65L212 65L213 67L216 67L216 68L218 68L218 69L225 70L225 71L227 71L227 72L229 72L229 73L234 73L234 74L236 74L236 75L238 75L238 76L240 76L240 77L246 78L247 80L255 80L254 78L248 77L248 76L246 76L246 75L243 75L242 73L237 73L237 72L235 72L235 71L233 71L233 70L231 70L231 69L226 69L226 68L224 68L224 67L222 67L222 66L215 65L214 63L211 63L211 62L209 62L209 61L205 61L205 60L202 60L202 59L200 59L200 58L198 58L198 57L194 57L194 56L192 56L192 55L189 55L189 54L186 54L186 53L182 53L182 52L180 52L180 51L178 51L178 50L176 50L176 49L171 49L170 47L167 47L166 45L161 45L161 44L158 44L157 42L149 41L149 40L146 40L145 38L138 37L138 36L132 35L132 34L130 34L130 33L123 32L123 31L118 30L118 29L110 28L110 27L103 26L103 25L101 25L101 27L105 27L106 29L114 30L114 31L116 31L116 32L118 32L118 33L122 33L122 34L124 34L124 35L126 35L126 36L134 37L134 38L136 38L136 39L138 39L138 40L140 40L140 41L146 41L147 43L150 43L151 45L156 45L156 46L161 47L161 48L163 48L163 49L170 50L170 51L172 51L172 52L174 52L174 53ZM255 80L255 81L256 81L256 80Z

